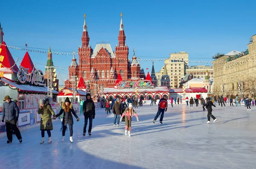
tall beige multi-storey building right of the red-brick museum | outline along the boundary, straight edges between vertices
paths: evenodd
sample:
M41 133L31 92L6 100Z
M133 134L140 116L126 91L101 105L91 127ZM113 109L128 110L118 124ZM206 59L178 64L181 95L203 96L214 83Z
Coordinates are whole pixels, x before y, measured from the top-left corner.
M188 66L189 53L179 52L171 53L165 61L167 73L170 77L170 88L178 88L180 79L185 75L185 69ZM164 66L159 72L156 72L157 86L160 86L160 78L164 72Z

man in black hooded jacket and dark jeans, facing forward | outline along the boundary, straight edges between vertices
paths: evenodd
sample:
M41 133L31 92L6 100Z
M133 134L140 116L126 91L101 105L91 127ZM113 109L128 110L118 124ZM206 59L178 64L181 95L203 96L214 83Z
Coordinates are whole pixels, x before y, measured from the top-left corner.
M95 118L95 105L93 100L91 99L91 95L89 93L86 94L86 100L83 104L83 112L84 112L84 132L83 136L86 133L86 126L89 118L89 129L88 134L91 135L91 130L93 126L93 119Z

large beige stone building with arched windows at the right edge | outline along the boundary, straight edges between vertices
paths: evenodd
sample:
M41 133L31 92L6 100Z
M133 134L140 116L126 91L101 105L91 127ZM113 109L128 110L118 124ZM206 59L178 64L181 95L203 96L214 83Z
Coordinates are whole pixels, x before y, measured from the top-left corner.
M256 35L250 38L244 52L232 51L225 55L216 54L212 62L215 95L241 97L255 96L256 89Z

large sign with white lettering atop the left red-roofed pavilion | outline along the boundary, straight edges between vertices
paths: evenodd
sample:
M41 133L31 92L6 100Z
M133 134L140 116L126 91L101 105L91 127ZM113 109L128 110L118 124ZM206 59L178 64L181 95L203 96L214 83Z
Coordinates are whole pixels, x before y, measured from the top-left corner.
M17 78L20 83L30 83L40 86L46 86L44 83L44 74L41 70L32 70L29 73L29 69L23 68L20 66Z

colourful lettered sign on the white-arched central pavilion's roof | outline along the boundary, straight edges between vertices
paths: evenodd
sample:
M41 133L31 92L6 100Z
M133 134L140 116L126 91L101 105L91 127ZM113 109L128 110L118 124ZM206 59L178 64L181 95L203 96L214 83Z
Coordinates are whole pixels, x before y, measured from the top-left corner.
M123 89L123 88L148 88L152 86L152 82L149 80L140 80L140 81L120 81L116 87L119 89Z

